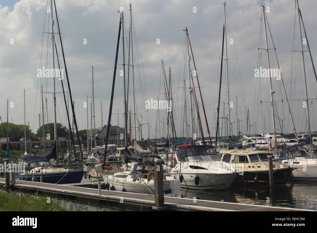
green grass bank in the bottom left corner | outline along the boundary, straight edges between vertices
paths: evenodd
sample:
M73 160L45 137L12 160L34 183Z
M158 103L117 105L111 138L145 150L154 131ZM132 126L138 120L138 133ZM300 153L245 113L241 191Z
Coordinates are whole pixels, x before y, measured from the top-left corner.
M16 192L0 191L0 211L68 211L59 202L47 197L21 197Z

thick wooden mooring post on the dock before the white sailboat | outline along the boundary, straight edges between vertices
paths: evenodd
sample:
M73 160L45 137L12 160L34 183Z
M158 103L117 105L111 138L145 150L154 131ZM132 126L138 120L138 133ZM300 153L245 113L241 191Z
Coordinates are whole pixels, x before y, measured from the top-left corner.
M162 210L168 207L164 206L164 179L162 159L154 159L154 196L155 206L153 210Z

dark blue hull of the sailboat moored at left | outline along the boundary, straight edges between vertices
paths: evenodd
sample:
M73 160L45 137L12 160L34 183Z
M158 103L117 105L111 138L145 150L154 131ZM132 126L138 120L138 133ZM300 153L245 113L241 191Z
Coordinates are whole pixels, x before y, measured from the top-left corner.
M66 175L65 175L66 174ZM32 178L35 178L35 181L40 182L41 176L43 176L43 183L50 184L73 184L81 183L81 179L84 175L84 171L72 171L72 172L56 172L56 173L42 173L42 174L19 174L20 179L26 181L32 181Z

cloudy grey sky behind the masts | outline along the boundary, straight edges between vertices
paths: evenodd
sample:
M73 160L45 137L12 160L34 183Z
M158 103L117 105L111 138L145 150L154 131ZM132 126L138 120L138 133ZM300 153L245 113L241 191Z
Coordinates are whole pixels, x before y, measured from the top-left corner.
M120 14L123 7L125 13L125 31L128 31L130 12L129 3L132 3L133 14L133 52L135 79L138 101L138 112L145 111L145 100L157 99L162 96L163 89L161 75L161 60L164 60L165 73L168 78L168 69L172 73L173 109L178 133L182 134L184 113L183 80L188 78L184 74L184 39L185 27L189 36L197 66L200 86L202 87L206 115L212 136L215 134L214 112L217 109L219 90L220 59L222 31L223 31L223 1L123 1L123 0L56 0L56 8L62 30L62 40L65 51L70 86L75 101L75 113L79 129L87 128L87 108L83 107L87 95L91 91L91 67L94 66L95 78L95 120L96 127L101 126L101 108L103 107L103 122L106 124L109 112L109 101L113 77L113 63L118 36ZM295 15L295 1L271 0L264 1L269 7L266 13L270 30L274 39L281 72L284 78L288 98L292 104L292 111L297 131L307 131L305 108L302 107L305 98L304 81L302 78L302 64L300 53L291 52L300 50L297 15ZM228 0L227 15L227 42L229 60L229 89L230 101L234 102L231 110L231 122L240 119L240 131L246 131L246 109L249 109L251 133L262 133L263 116L265 115L266 129L272 132L271 109L269 101L269 82L267 78L255 78L254 70L260 66L267 67L263 27L261 27L261 5L257 0ZM316 1L299 1L303 15L308 41L313 60L317 58L317 37L315 14ZM26 121L33 132L39 127L38 114L41 113L40 87L44 92L53 91L53 81L49 78L38 78L37 69L45 66L52 67L51 44L49 34L49 15L46 14L49 1L47 0L0 0L0 114L4 120L6 116L6 100L14 103L9 109L10 121L23 124L23 89L26 89ZM194 12L196 9L196 13ZM296 18L294 18L296 16ZM55 32L57 23L55 22ZM295 25L295 29L294 29ZM55 38L58 34L55 34ZM303 34L303 37L304 34ZM13 39L13 40L12 40ZM84 44L87 39L87 44ZM157 44L159 39L159 44ZM233 44L230 44L233 39ZM58 41L56 39L56 41ZM12 43L13 42L13 43ZM127 36L125 46L127 51ZM59 46L59 44L57 44ZM118 64L122 64L122 44L120 42ZM272 47L269 42L269 47ZM260 50L258 49L260 48ZM262 49L261 49L262 48ZM304 50L307 45L304 45ZM271 54L271 68L277 68L273 50ZM60 53L60 51L59 51ZM316 81L310 64L308 52L305 52L308 98L317 98ZM126 56L127 60L127 56ZM55 62L56 63L56 62ZM127 61L126 61L127 63ZM191 63L191 68L193 64ZM113 113L123 112L123 82L117 68L117 82ZM225 72L225 69L223 69ZM223 73L221 101L226 101L226 80ZM292 133L292 126L281 81L272 80L273 90L276 91L275 101L279 118L283 120L284 133ZM197 83L195 82L197 87ZM198 94L198 89L197 94ZM185 90L188 92L188 90ZM56 92L61 92L60 81L56 82ZM129 106L131 106L132 89L129 88ZM237 96L237 97L236 97ZM49 122L52 122L52 94L44 93L48 99ZM57 94L57 121L67 125L65 107L62 95ZM186 97L188 98L188 96ZM197 98L199 98L197 96ZM237 99L238 103L235 103ZM283 102L281 102L283 100ZM311 100L310 100L311 101ZM89 104L91 98L89 98ZM200 101L199 101L200 102ZM311 116L317 112L317 101L310 105ZM45 102L44 102L45 107ZM132 107L132 106L131 106ZM201 108L201 103L199 103ZM220 105L220 117L227 115L227 107L223 110ZM129 107L130 108L130 107ZM117 110L118 109L118 110ZM45 108L46 111L46 108ZM223 114L223 111L225 113ZM277 115L275 112L275 114ZM141 124L150 123L151 137L155 137L157 110L149 109L147 113L139 113ZM166 112L159 112L160 121ZM202 109L201 109L202 114ZM41 116L42 117L42 116ZM196 117L196 116L195 116ZM47 120L45 113L45 120ZM90 120L90 109L89 109ZM117 115L113 115L112 124L117 125ZM277 119L277 118L276 118ZM188 119L187 119L188 120ZM204 134L206 127L203 120ZM6 121L6 120L4 120ZM165 120L166 121L166 120ZM119 125L122 126L122 115L119 114ZM253 123L252 123L253 122ZM221 121L222 124L222 121ZM281 125L283 125L281 123ZM281 131L280 122L276 122L277 131ZM143 126L143 137L147 137L148 126ZM163 124L161 124L163 127ZM237 132L237 124L233 124L233 134ZM316 130L315 118L311 117L312 131ZM161 132L162 133L162 132ZM164 132L163 132L164 134ZM223 132L223 135L225 133Z

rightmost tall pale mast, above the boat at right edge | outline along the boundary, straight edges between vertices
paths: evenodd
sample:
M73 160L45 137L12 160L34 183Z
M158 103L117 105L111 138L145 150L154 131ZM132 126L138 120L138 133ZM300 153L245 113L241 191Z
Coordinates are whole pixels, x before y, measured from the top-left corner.
M303 40L301 36L301 20L300 20L300 14L299 14L299 5L298 0L296 2L296 8L297 8L297 16L298 16L298 30L299 30L299 36L301 41L301 60L303 61L303 72L304 72L304 82L305 82L305 95L306 95L306 114L307 114L307 125L308 125L308 134L309 134L309 153L310 158L313 158L313 151L312 151L312 135L310 132L310 119L309 119L309 109L308 109L308 94L307 94L307 83L306 83L306 70L305 70L305 61L304 61L304 49L303 49Z

